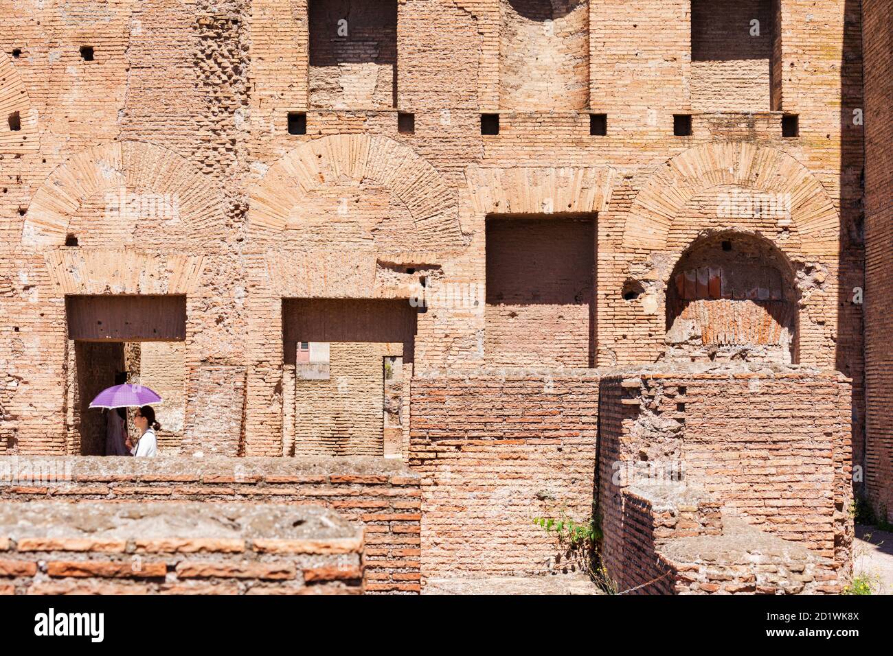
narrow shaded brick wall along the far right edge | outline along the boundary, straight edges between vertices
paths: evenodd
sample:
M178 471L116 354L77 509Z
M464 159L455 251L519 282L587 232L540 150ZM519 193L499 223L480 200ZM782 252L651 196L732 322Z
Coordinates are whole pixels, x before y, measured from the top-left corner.
M893 519L893 26L889 0L864 2L865 48L865 358L867 444L865 489L878 514Z

